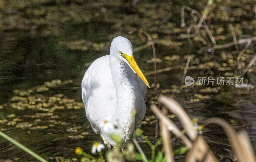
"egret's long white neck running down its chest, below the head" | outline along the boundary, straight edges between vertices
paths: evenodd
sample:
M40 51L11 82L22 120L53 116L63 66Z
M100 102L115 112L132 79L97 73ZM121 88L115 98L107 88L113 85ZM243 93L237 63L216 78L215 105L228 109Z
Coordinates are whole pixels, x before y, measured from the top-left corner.
M116 89L116 112L113 117L119 120L118 123L122 125L121 128L124 128L124 132L130 133L134 124L132 115L132 110L135 108L134 87L127 78L124 61L110 55L109 67Z

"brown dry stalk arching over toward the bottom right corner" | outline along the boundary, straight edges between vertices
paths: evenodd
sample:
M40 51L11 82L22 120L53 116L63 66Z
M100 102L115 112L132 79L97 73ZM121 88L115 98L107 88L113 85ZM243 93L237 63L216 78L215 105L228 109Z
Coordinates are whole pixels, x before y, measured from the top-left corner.
M227 121L218 117L211 117L205 120L205 125L208 125L211 123L218 124L223 128L223 130L225 131L228 137L228 141L231 144L231 148L237 157L237 161L241 161L241 162L248 161L246 159L248 157L247 154L249 152L244 153L243 150L241 149L242 148L240 143L241 139L238 139L238 137L236 136L236 130L232 126L230 126Z

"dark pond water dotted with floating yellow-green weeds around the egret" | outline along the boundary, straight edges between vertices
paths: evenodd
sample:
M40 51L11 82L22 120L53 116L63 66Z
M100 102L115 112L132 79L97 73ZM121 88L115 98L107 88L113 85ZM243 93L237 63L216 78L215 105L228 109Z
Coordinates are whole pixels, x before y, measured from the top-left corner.
M89 63L108 54L114 37L127 37L134 50L146 44L143 35L127 34L133 29L143 29L158 41L155 43L156 55L161 60L156 64L157 69L173 67L157 73L160 94L175 98L191 118L199 118L199 124L208 117L221 117L237 130L247 130L253 148L256 147L255 88L218 86L215 83L213 86L185 86L185 76L196 79L241 74L256 50L252 42L240 60L241 68L237 68L239 51L234 46L212 53L198 53L202 42L192 39L191 45L187 39L178 39L187 29L180 29L180 7L186 4L201 12L204 1L140 1L136 7L131 7L129 1L44 1L34 4L3 1L3 4L0 5L3 15L0 25L0 104L3 105L0 128L47 160L56 161L55 157L79 159L74 151L76 147L90 153L92 144L101 141L86 119L81 103L81 81ZM215 39L218 35L226 38L217 40L217 44L233 41L228 23L234 26L237 39L255 36L256 20L252 8L253 1L249 0L218 4L210 30ZM189 13L185 21L187 26L193 22ZM207 36L203 38L210 44ZM212 49L211 46L208 48ZM243 49L244 45L239 45L239 48ZM135 51L134 56L149 83L153 83L153 75L148 74L153 70L151 47ZM193 60L184 75L188 56ZM254 67L244 76L244 83L255 84ZM15 94L14 89L27 91L54 79L60 79L62 83L72 80L72 83L57 84L44 92L34 89L29 95L23 95L29 105L38 105L36 108L28 108L25 101L13 98L21 95ZM35 98L30 102L28 96ZM59 99L49 103L52 96ZM148 90L145 101L147 113L141 129L151 141L156 141L155 119L150 118L153 113L149 109L150 104L156 103L154 88ZM19 103L20 108L17 108ZM172 120L180 125L177 118ZM207 126L203 135L217 158L223 161L234 158L220 127ZM174 149L181 145L176 140ZM150 147L145 143L141 143L141 147L150 157ZM3 138L0 138L0 158L35 161ZM182 161L183 156L175 155L175 159Z

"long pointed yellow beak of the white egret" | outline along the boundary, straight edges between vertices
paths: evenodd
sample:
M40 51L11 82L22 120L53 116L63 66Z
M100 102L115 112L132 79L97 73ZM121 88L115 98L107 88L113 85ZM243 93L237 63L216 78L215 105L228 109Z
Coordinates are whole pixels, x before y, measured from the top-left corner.
M132 56L129 56L129 55L123 53L122 56L125 58L125 60L128 61L128 63L131 65L132 69L139 75L140 79L142 81L144 81L144 83L148 86L148 88L151 88L148 84L147 79L145 78L145 76L141 72L140 67L137 65L133 54L132 54Z

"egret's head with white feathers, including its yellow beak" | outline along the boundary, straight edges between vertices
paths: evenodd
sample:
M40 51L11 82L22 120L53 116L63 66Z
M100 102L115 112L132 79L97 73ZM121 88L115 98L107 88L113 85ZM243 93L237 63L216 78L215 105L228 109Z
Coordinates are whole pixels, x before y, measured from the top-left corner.
M141 72L134 59L130 40L121 36L114 38L110 46L110 54L113 54L117 59L127 63L132 70L139 75L141 80L144 81L144 83L150 88L147 79Z

